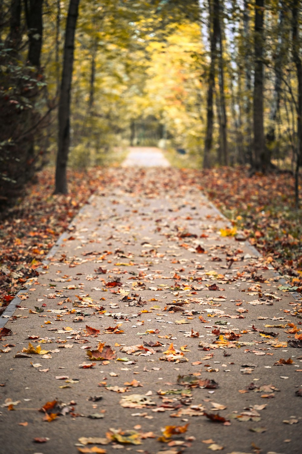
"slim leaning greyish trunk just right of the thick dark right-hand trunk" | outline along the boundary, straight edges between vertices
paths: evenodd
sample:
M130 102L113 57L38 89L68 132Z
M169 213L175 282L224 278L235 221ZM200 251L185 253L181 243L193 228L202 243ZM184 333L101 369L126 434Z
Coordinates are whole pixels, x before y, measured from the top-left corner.
M284 16L285 16L285 5L284 2L281 2L281 9L279 12L279 20L278 20L278 44L276 49L276 58L274 64L274 73L275 73L275 80L274 80L274 92L273 92L273 99L271 103L271 109L269 113L269 121L270 125L268 128L268 132L266 134L266 147L268 149L269 155L269 162L271 160L271 154L273 148L275 146L275 128L276 128L276 119L279 112L280 107L280 98L281 98L281 83L282 83L282 67L283 67L283 55L284 55L284 36L283 36L283 24L284 24Z

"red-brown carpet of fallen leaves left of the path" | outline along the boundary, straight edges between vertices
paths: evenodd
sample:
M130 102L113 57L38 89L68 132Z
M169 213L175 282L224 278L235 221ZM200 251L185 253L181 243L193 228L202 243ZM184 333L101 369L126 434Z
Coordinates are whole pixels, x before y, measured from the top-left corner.
M0 311L14 298L66 230L72 218L101 188L101 171L68 172L68 196L53 195L54 169L38 173L37 183L6 212L0 223Z

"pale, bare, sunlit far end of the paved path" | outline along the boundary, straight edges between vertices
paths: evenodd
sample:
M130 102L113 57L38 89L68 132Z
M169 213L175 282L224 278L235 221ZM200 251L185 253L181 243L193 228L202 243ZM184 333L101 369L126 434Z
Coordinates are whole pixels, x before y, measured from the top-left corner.
M129 147L122 167L169 167L163 152L155 147Z

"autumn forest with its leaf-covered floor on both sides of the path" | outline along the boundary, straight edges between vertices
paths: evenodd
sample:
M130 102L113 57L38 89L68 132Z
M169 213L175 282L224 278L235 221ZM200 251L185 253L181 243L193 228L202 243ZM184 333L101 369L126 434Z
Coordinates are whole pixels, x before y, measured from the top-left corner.
M196 171L299 286L301 42L298 0L4 0L0 305L129 145Z

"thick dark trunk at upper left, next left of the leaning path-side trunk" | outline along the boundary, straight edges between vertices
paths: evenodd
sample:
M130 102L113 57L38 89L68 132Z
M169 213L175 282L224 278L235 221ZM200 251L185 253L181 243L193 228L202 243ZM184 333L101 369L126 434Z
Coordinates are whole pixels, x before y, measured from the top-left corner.
M27 33L29 37L29 64L40 67L40 56L42 48L42 5L43 0L25 0L25 16L27 23Z

